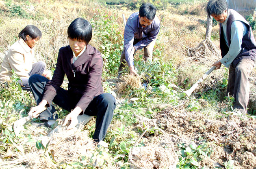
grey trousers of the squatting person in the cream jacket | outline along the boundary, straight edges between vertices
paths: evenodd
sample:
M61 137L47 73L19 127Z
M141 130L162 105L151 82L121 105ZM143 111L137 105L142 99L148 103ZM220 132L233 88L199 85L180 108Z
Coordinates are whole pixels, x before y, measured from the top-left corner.
M46 63L43 61L39 61L37 63L34 63L32 65L32 69L30 72L28 72L28 76L32 76L33 74L43 74L43 72L46 70ZM19 80L20 86L23 90L30 91L30 87L28 85L28 78L20 78Z

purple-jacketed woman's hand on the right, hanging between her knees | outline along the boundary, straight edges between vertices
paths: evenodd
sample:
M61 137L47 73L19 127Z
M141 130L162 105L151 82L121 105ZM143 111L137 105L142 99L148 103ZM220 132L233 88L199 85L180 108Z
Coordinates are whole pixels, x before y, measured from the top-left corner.
M74 129L74 127L76 127L76 125L78 124L78 119L77 116L82 112L82 109L80 107L76 107L74 108L74 110L72 110L67 117L64 120L64 123L62 126L67 125L67 122L69 120L71 120L70 125L67 127L67 130L71 130Z

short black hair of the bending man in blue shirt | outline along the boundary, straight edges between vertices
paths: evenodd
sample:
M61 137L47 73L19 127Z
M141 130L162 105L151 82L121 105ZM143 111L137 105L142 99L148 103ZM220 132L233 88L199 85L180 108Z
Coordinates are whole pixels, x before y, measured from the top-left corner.
M156 7L150 3L143 3L139 7L139 16L146 17L149 20L153 20L156 15Z

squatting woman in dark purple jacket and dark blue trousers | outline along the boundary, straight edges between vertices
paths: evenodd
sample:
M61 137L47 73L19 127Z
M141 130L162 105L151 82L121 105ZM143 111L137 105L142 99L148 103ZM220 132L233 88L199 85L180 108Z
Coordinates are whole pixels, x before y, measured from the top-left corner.
M69 111L63 126L70 120L67 129L78 124L78 116L87 114L97 116L93 139L100 142L104 139L115 109L115 98L103 93L101 85L103 60L100 52L88 43L92 36L91 24L77 18L67 29L69 45L59 50L56 69L52 80L33 75L29 78L31 91L37 105L30 109L29 115L39 116L46 127L49 127L57 116L52 102ZM68 89L61 88L64 76L69 81ZM47 108L45 111L43 111Z

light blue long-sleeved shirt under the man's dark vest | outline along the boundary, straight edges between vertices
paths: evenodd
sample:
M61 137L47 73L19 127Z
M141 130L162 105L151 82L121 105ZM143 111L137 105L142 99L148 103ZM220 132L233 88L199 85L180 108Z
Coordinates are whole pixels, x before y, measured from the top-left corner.
M228 46L228 40L227 40L227 21L228 21L228 17L229 17L229 10L228 10L228 15L226 18L226 21L222 23L222 27L223 27L223 35L224 35L224 39L226 41L226 44ZM230 66L230 64L232 63L232 61L234 61L234 59L236 58L237 55L239 55L239 53L242 50L242 39L243 36L245 36L245 34L247 34L248 29L245 25L245 23L243 23L242 21L234 21L231 24L231 38L230 38L230 46L228 53L220 60L220 62L225 65L227 68Z

